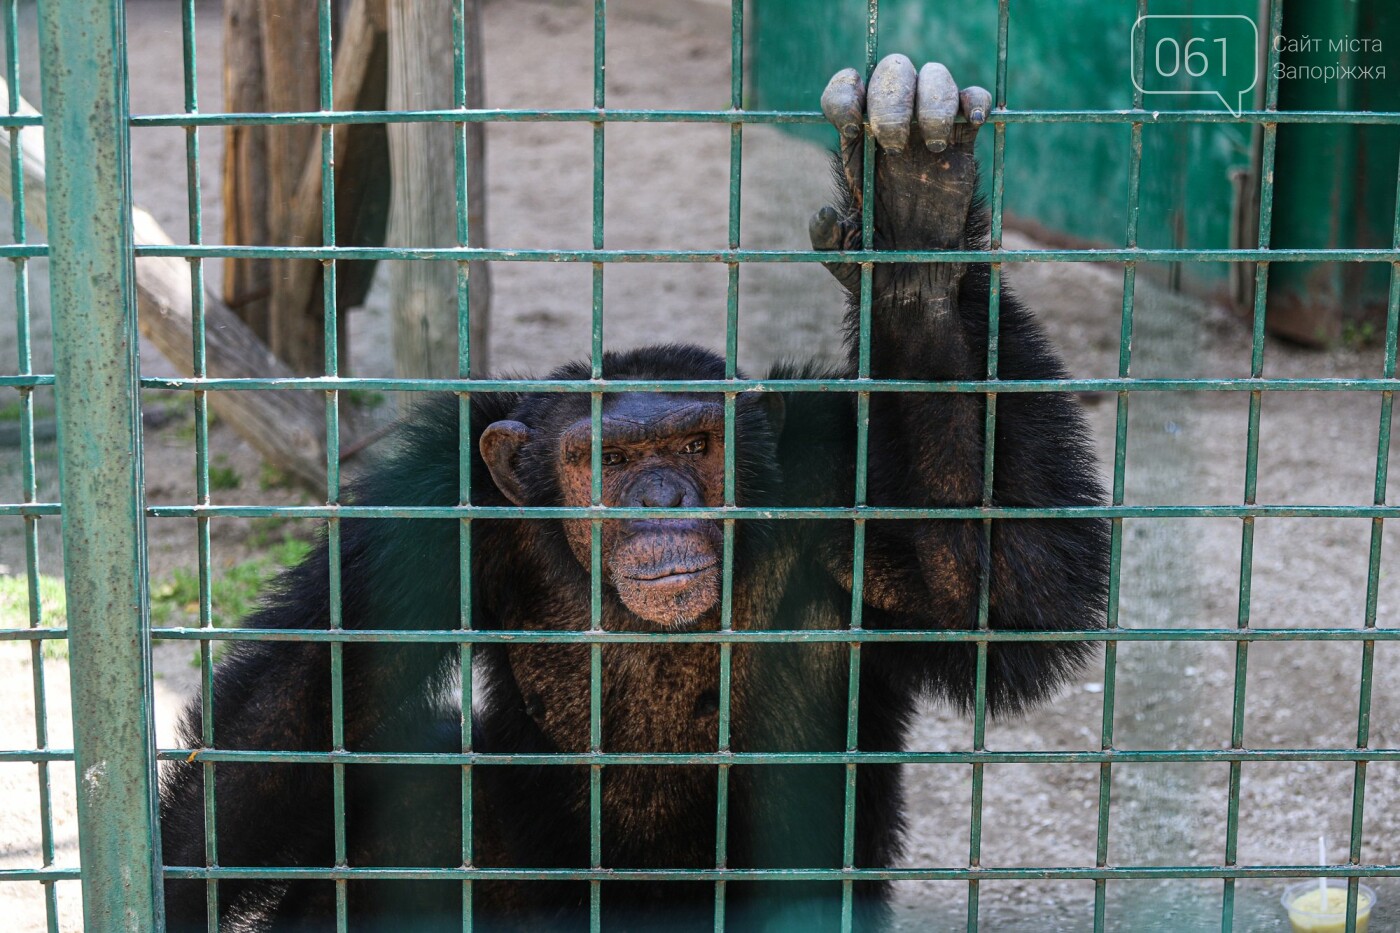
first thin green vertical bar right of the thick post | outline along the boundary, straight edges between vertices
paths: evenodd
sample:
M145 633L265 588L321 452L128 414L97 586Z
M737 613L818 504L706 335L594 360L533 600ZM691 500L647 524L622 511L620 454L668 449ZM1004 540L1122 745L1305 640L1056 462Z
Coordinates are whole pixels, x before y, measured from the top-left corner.
M195 0L181 4L181 36L183 43L182 70L185 77L185 112L199 112L199 59L195 36ZM200 200L199 174L199 127L185 127L185 199L189 212L189 241L204 242L204 214ZM204 360L204 262L195 256L189 261L190 317L192 317L192 361L193 375L206 375ZM209 497L209 398L203 389L195 389L195 497L203 506ZM196 562L199 573L199 626L214 628L213 612L213 556L210 551L209 517L195 520ZM200 674L200 741L204 748L214 747L214 646L209 639L199 643ZM218 822L214 801L214 765L202 765L204 778L204 864L218 864ZM206 929L218 933L218 880L206 881Z

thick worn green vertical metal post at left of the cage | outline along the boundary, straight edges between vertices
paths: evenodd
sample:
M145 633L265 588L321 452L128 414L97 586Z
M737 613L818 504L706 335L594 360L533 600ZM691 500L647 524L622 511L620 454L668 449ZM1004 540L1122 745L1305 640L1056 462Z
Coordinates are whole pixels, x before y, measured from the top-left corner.
M125 7L39 4L83 915L161 919Z

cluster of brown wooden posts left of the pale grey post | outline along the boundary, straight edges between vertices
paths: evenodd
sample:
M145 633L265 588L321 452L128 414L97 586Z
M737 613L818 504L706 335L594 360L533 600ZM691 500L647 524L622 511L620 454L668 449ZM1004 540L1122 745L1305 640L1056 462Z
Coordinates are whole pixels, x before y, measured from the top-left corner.
M224 94L230 112L316 111L315 3L227 0ZM339 0L335 38L337 111L382 111L388 83L385 0ZM308 67L309 66L309 67ZM225 137L224 238L234 244L321 245L321 139L316 126L231 126ZM336 242L384 244L389 151L384 126L335 130ZM343 262L336 276L342 373L349 361L346 311L364 303L374 262ZM277 356L301 374L323 367L322 266L308 259L227 259L224 298Z

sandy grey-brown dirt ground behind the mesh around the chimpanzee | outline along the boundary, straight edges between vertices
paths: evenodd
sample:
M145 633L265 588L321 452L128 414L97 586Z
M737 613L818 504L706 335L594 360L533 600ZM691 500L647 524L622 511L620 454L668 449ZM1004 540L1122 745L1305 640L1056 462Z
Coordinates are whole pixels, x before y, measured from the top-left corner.
M32 8L25 39L32 48ZM129 0L132 105L136 112L179 109L178 6ZM486 7L487 105L585 106L592 60L589 4L580 0L497 0ZM608 21L608 99L619 106L721 108L728 105L727 4L650 4L615 0ZM200 99L218 109L220 17L199 4ZM38 97L27 73L25 94ZM988 66L990 70L990 66ZM990 78L986 78L990 80ZM819 88L813 88L813 98ZM497 247L588 245L591 219L587 126L522 123L489 126L489 238ZM202 133L206 230L220 230L220 134ZM179 130L133 133L137 200L179 238L185 231L183 144ZM1008 158L1015 153L1008 147ZM825 154L770 127L743 132L743 244L805 247L806 217L827 189ZM728 129L704 125L620 125L608 129L606 237L609 247L722 247L727 228ZM449 182L444 182L445 185ZM1033 245L1011 238L1014 245ZM38 371L48 371L48 305L43 263L32 263ZM217 290L218 268L210 263ZM0 275L11 275L8 263ZM539 373L588 347L589 272L561 263L496 263L494 336L498 371ZM381 276L382 279L382 276ZM1026 263L1008 272L1012 287L1040 314L1077 375L1117 374L1121 270L1089 265ZM11 294L0 282L0 296ZM606 276L609 345L671 339L724 345L725 276L720 266L627 265ZM1151 283L1137 289L1133 374L1140 377L1242 375L1249 371L1247 332L1224 311ZM4 305L13 319L13 303ZM351 318L358 374L388 374L388 315L382 287ZM832 354L840 297L818 268L749 266L741 276L741 361L750 371L783 356ZM15 371L13 326L0 333L0 371ZM1270 342L1270 375L1375 375L1375 347L1305 353ZM148 374L168 364L143 346ZM4 399L7 403L10 399ZM1113 462L1114 402L1086 396L1102 462ZM147 399L148 409L172 406ZM41 416L52 396L36 394ZM185 405L179 402L179 405ZM1271 394L1264 401L1259 451L1259 502L1369 504L1373 497L1379 396L1371 394ZM1130 504L1239 503L1245 483L1243 394L1135 394L1128 415L1126 500ZM147 433L150 500L186 503L193 496L192 443L174 419ZM14 448L14 441L3 441ZM216 500L298 502L298 493L260 489L258 458L216 424L218 462L248 478ZM0 447L0 450L7 450ZM0 454L0 500L18 499L17 457ZM53 500L53 447L39 450L41 499ZM265 537L252 523L214 523L216 567L245 560ZM1266 628L1361 626L1365 614L1371 523L1366 520L1260 520L1254 537L1252 623ZM1385 532L1378 623L1394 625L1397 594L1389 567L1397 558L1393 525ZM1238 520L1130 520L1124 523L1121 618L1133 628L1224 628L1239 621ZM150 523L151 576L193 566L189 523ZM41 523L42 567L62 566L57 525ZM22 574L20 523L0 523L0 574ZM0 625L17 625L3 619ZM188 646L155 650L158 741L169 744L179 705L197 686ZM1117 653L1113 740L1119 748L1229 747L1235 647L1224 643L1124 643ZM70 747L67 664L43 663L49 742ZM1361 646L1358 643L1259 643L1249 649L1245 740L1254 748L1345 747L1355 742ZM994 749L1096 749L1105 671L1084 674L1047 707L991 723ZM1371 744L1400 742L1400 647L1375 651ZM914 749L965 749L970 724L937 706L921 710ZM0 643L0 748L32 748L34 686L29 649ZM902 864L967 863L970 768L907 769L909 846ZM1351 831L1355 769L1345 763L1249 763L1239 807L1240 864L1310 864L1317 835L1330 860L1343 860ZM1138 763L1113 769L1109 863L1221 864L1225 853L1226 765ZM50 769L56 862L76 864L73 773ZM1362 860L1400 862L1400 766L1376 763L1366 776ZM1092 866L1096 765L997 765L986 769L983 852L986 866ZM39 863L34 765L0 765L0 870ZM1277 881L1242 883L1236 929L1282 930ZM1380 905L1372 930L1400 927L1400 884L1373 885ZM1114 883L1112 930L1218 929L1221 891L1210 883ZM78 929L78 885L57 885L60 927ZM960 929L967 885L910 883L899 891L903 930ZM1091 926L1093 885L988 883L981 918L990 930L1084 930ZM43 929L41 887L0 883L4 927Z

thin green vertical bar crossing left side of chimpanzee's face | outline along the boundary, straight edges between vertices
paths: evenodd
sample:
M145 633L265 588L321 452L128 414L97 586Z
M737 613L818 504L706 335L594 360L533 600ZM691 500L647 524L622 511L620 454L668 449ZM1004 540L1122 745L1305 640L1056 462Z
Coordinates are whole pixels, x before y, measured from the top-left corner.
M608 78L608 0L594 0L594 106L601 112L605 106ZM603 120L594 123L594 249L603 248ZM594 303L592 303L592 378L603 377L603 263L594 263ZM603 504L603 394L594 392L589 408L592 420L591 440L591 504L602 509ZM588 580L589 580L589 629L602 632L603 628L603 527L598 518L592 520L588 548ZM594 642L588 646L588 749L594 754L602 751L602 692L603 692L603 654L602 644ZM603 832L602 832L602 797L603 797L603 768L591 765L588 768L588 864L601 869L603 863ZM602 929L602 881L588 883L588 929L599 933Z

